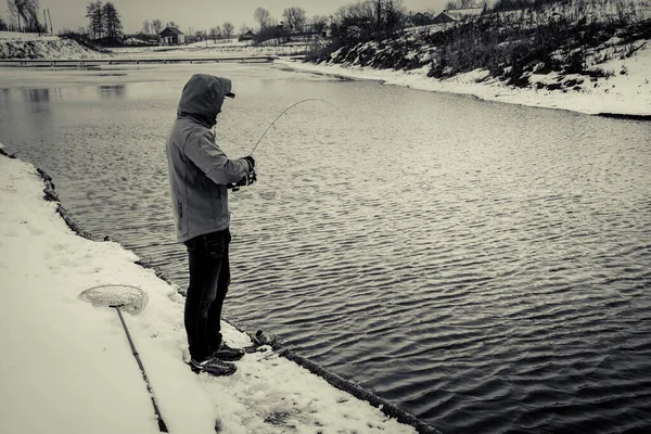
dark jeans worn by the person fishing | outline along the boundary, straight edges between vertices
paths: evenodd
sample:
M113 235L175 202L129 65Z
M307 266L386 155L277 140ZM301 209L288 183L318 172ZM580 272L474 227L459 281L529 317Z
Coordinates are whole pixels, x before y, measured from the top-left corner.
M186 332L190 356L197 361L213 354L221 342L219 321L230 283L228 229L187 241L190 286L186 296Z

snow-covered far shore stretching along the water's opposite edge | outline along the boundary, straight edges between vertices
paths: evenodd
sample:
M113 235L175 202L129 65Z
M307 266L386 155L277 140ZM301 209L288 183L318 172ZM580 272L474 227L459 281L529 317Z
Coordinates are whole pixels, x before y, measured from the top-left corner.
M51 44L52 38L44 37ZM49 38L49 39L48 39ZM0 42L21 44L26 41L0 37ZM29 42L34 42L29 40ZM54 41L55 42L55 41ZM71 42L71 43L68 43ZM178 47L133 47L98 53L61 40L61 47L43 48L41 59L0 59L0 68L52 67L103 68L112 65L139 64L202 64L221 62L273 63L296 72L326 74L349 79L378 80L386 85L406 86L417 90L474 95L486 101L520 104L540 108L564 110L590 115L651 120L651 43L631 59L614 59L602 67L626 72L609 78L599 78L582 90L549 90L536 87L516 88L488 77L476 69L447 79L427 76L429 68L412 71L380 69L370 66L304 62L305 44L252 46L242 42L210 44L196 42ZM44 43L44 42L43 42ZM536 82L586 79L583 76L561 76L558 73L537 75ZM0 76L0 81L2 77Z

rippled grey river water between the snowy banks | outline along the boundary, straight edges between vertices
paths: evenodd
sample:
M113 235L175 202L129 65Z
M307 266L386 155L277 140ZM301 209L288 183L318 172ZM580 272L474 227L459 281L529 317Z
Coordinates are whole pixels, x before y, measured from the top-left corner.
M233 79L226 315L444 433L651 430L651 124L268 65L0 71L0 141L86 229L184 285L164 143L193 72Z

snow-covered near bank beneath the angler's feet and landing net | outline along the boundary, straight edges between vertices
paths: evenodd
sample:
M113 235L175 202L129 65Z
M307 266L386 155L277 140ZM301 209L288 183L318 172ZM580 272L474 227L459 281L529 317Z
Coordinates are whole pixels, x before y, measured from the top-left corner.
M76 235L42 190L31 165L0 156L0 432L158 432L117 312L78 298L102 284L149 295L125 320L171 433L214 432L216 420L233 434L416 432L273 353L244 356L230 378L195 375L177 289L119 244Z

